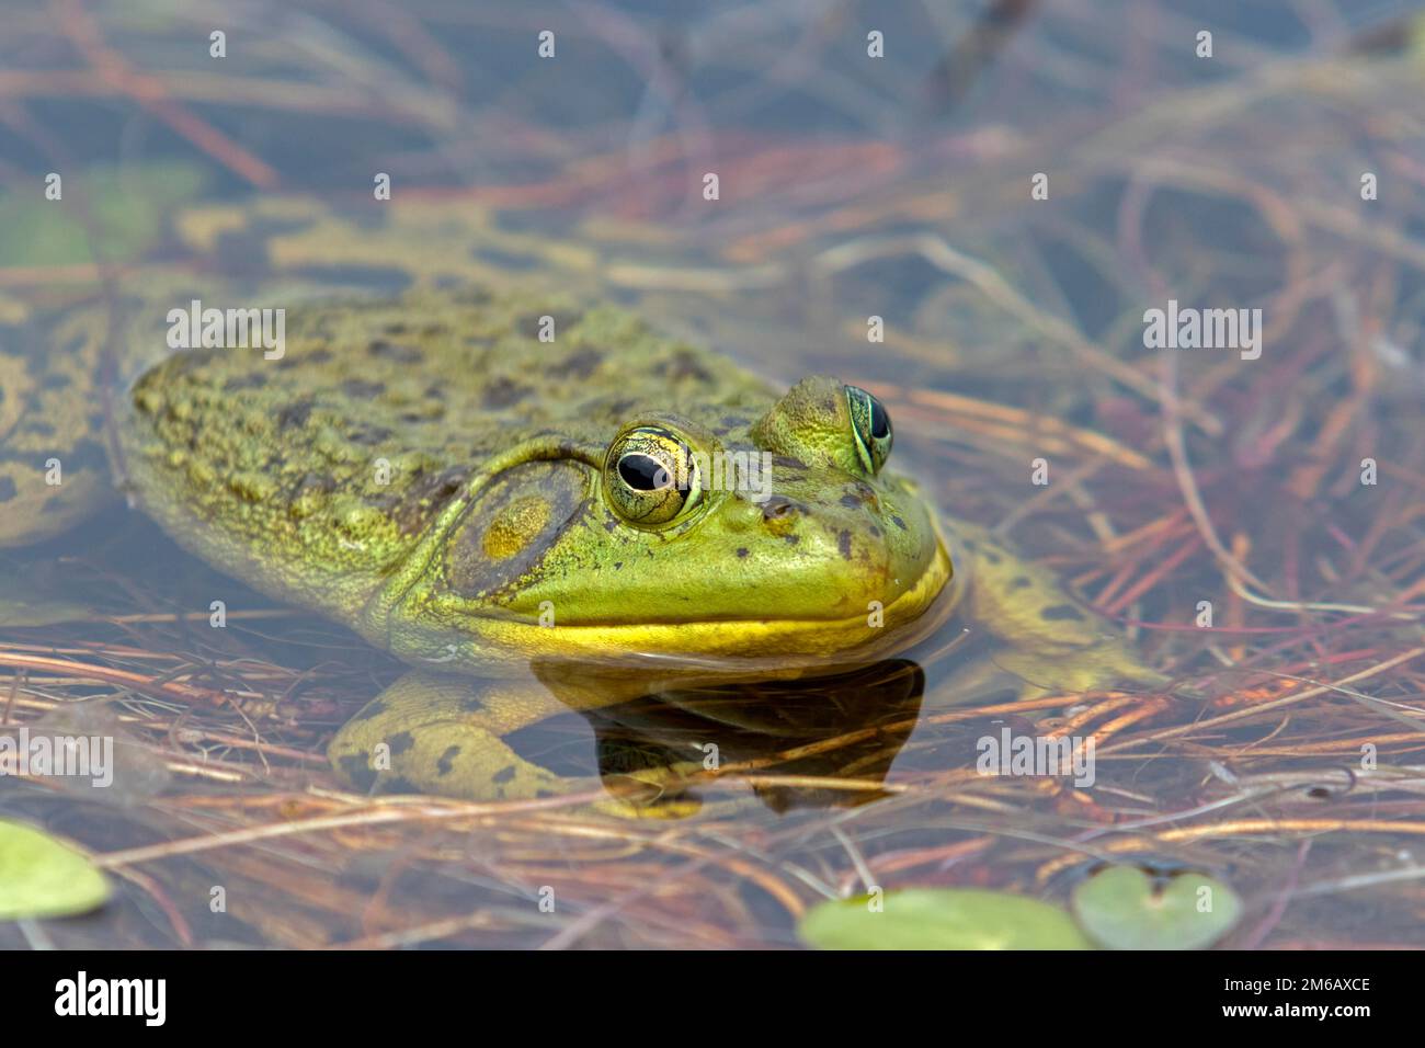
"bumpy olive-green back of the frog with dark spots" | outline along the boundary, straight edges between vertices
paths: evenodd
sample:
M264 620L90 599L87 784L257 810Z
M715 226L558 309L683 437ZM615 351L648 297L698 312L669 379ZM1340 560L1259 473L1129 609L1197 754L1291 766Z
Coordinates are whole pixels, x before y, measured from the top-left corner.
M369 599L476 475L532 441L593 451L633 411L771 399L608 307L480 289L309 304L286 312L278 359L194 349L144 374L123 471L190 549L331 610Z

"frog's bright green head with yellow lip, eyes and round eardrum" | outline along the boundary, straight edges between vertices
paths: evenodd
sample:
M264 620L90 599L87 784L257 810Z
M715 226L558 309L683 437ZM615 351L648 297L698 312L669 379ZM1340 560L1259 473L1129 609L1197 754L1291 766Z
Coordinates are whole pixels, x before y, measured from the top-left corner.
M885 468L892 441L879 401L826 376L757 412L627 412L611 439L564 441L480 488L396 609L393 647L884 650L950 577L931 506Z

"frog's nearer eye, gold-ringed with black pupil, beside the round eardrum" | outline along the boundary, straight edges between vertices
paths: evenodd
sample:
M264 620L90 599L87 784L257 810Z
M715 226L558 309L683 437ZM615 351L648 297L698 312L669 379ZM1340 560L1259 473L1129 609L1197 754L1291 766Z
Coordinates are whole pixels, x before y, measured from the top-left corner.
M678 520L703 493L687 442L660 426L628 429L608 445L604 489L614 512L637 528Z

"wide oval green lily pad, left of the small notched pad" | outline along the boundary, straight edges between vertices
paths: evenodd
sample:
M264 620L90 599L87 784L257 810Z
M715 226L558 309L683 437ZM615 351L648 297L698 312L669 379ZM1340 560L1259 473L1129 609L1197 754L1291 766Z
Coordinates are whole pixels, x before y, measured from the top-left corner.
M1090 950L1056 905L980 888L908 888L821 903L798 934L819 950Z

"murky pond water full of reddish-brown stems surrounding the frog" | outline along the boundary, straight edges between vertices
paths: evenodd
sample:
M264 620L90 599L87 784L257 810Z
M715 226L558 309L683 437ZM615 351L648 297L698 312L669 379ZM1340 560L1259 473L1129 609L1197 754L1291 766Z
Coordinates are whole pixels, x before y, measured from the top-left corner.
M0 4L0 731L114 770L0 756L0 817L114 887L0 947L792 947L825 900L1113 864L1230 885L1227 947L1425 942L1419 6L677 7ZM960 600L513 731L581 800L363 796L325 749L402 660L125 508L113 425L170 308L412 285L869 391L952 587L995 577L969 522L1160 676ZM587 803L670 764L646 817Z

